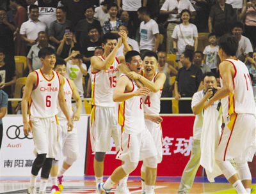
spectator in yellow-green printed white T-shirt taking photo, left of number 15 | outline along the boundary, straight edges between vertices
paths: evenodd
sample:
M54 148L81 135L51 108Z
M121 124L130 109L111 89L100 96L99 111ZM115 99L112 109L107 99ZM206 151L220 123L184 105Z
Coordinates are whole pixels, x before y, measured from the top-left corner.
M83 75L87 75L86 64L83 63L82 59L83 55L80 54L80 50L77 47L71 48L70 56L65 59L67 61L65 77L74 81L80 98L84 98ZM75 103L72 103L72 107L76 111ZM82 108L81 114L85 114L84 108Z

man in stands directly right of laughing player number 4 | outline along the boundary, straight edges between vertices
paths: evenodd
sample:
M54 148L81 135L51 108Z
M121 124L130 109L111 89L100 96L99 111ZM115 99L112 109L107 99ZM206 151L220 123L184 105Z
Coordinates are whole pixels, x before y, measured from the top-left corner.
M166 52L157 52L158 63L156 71L159 73L164 73L166 75L166 80L164 82L164 87L162 91L162 98L172 97L173 87L171 84L171 74L177 75L178 71L166 62ZM161 113L172 113L172 100L162 100L161 101Z

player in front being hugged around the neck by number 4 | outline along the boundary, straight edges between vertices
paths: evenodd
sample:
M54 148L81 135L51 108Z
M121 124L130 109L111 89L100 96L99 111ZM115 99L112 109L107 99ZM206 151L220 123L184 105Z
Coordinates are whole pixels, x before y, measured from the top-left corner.
M125 55L126 65L131 71L140 73L142 60L140 53L132 50ZM113 94L113 101L118 102L118 128L123 130L122 145L117 159L124 164L115 169L106 183L99 183L97 191L109 193L111 186L131 173L138 165L139 160L146 163L146 193L154 193L156 183L157 151L152 142L152 135L147 130L144 121L142 95L148 96L149 89L138 89L134 80L122 75L118 78Z

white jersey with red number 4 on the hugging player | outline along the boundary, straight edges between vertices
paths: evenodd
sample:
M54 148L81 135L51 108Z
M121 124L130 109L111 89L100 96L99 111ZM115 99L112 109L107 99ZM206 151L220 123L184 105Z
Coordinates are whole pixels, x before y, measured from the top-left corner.
M156 81L157 74L158 74L158 72L155 73L151 82L154 83ZM162 90L163 89L160 89L156 93L153 93L151 91L149 96L142 96L144 112L146 112L148 114L154 114L154 115L159 114L159 112L160 112L160 98L161 98Z

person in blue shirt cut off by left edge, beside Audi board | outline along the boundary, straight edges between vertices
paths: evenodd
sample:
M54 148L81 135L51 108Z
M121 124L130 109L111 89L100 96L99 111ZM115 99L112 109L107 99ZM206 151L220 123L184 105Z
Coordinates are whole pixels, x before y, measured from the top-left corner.
M0 82L2 82L1 76L0 76ZM8 107L8 95L4 93L4 91L1 90L1 87L0 87L0 149L2 146L3 130L4 130L2 119L6 115L7 107Z

